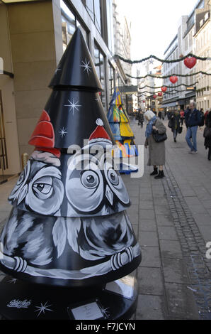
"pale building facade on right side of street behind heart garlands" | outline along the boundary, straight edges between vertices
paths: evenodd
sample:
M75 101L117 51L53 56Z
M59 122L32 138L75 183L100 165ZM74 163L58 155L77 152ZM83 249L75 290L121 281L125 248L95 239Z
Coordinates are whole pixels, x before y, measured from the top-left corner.
M168 48L166 48L164 53L165 60L175 60L183 55L187 55L188 53L193 53L195 55L201 54L210 54L210 42L206 41L205 50L199 52L196 50L195 45L197 43L197 33L196 31L199 30L198 27L198 15L199 13L204 13L206 15L208 13L207 0L200 0L196 4L193 11L190 13L189 16L181 16L181 19L178 23L178 31L173 38L173 41L169 44ZM208 14L207 14L208 16ZM206 16L206 17L207 17ZM208 19L207 19L208 23ZM208 26L208 25L207 25ZM203 26L201 27L203 30ZM198 33L200 33L198 31ZM207 33L208 35L208 33ZM207 37L208 38L208 37ZM206 63L206 65L205 65ZM162 67L162 75L192 75L195 72L198 72L199 68L203 68L206 66L207 70L209 68L209 61L206 62L198 60L197 65L191 70L184 65L183 61L177 63L164 63ZM170 86L164 94L163 98L163 105L166 110L173 110L173 109L186 109L190 101L195 101L198 104L198 90L199 90L199 78L198 75L192 76L185 76L180 77L178 76L178 81L176 84L170 82L169 78L164 79L164 85ZM208 78L206 78L208 80ZM180 87L175 89L175 86L184 84ZM189 87L187 87L187 86ZM206 85L207 87L208 85ZM204 86L203 86L204 87ZM204 97L202 97L203 99Z

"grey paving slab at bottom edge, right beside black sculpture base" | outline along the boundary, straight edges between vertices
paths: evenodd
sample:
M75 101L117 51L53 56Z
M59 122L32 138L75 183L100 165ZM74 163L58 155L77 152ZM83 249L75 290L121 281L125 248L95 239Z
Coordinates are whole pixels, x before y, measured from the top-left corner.
M165 303L162 296L139 294L136 320L165 320Z

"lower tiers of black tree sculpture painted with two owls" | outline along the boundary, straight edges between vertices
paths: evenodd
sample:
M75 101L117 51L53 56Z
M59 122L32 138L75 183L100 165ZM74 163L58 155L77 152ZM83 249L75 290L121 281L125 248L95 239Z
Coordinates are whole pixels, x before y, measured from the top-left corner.
M77 286L137 267L139 244L125 212L130 199L104 139L93 132L72 154L33 152L8 198L1 269L35 283Z

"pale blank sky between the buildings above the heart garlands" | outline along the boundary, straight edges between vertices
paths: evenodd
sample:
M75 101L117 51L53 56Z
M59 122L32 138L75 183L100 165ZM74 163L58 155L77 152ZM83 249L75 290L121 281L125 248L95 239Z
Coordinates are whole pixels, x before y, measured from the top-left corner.
M149 55L164 58L176 36L178 21L189 15L198 0L117 0L118 8L131 21L132 60Z

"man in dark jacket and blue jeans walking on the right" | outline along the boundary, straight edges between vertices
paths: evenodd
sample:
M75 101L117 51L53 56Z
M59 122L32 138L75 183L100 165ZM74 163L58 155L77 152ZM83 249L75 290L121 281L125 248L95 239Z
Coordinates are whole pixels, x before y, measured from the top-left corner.
M188 146L190 147L189 153L195 154L198 153L196 135L197 135L198 125L200 124L200 111L196 109L195 102L190 102L189 109L187 109L185 112L185 119L187 126L186 141Z

